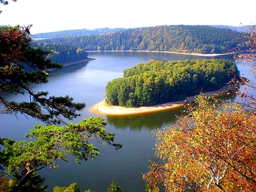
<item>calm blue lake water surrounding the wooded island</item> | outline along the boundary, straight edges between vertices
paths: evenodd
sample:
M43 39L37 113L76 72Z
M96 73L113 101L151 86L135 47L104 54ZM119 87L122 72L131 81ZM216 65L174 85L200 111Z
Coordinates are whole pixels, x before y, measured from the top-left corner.
M50 72L48 84L33 85L35 91L47 90L54 96L72 96L75 102L85 102L87 107L81 112L82 118L96 116L89 109L97 102L104 99L105 86L108 81L120 78L123 69L130 68L141 62L151 59L184 60L203 58L232 59L232 56L192 56L173 53L150 52L104 52L89 53L95 60L83 62L74 66L67 66L61 70ZM238 63L241 68L242 64ZM24 96L9 96L9 99L28 100ZM77 183L81 191L90 189L96 192L106 191L111 181L115 181L126 192L143 191L144 182L142 173L148 170L148 160L154 157L155 138L151 131L156 128L169 126L175 121L176 115L181 114L183 108L171 111L157 112L154 114L138 114L129 116L105 116L108 125L105 129L115 133L115 142L123 145L120 150L111 146L99 146L100 156L96 160L82 162L81 165L70 162L58 161L59 168L41 170L42 177L46 178L45 184L48 191L54 186L66 187ZM32 129L35 123L40 123L32 118L22 115L1 115L0 136L12 139L24 139L25 133Z

